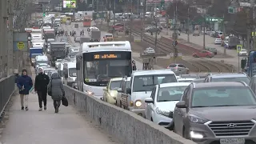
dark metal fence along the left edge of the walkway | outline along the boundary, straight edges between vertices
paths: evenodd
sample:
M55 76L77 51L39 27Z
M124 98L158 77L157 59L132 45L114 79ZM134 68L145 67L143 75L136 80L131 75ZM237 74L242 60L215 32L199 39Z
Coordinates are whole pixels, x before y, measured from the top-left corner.
M15 76L10 75L9 77L0 79L0 118L6 108L6 104L10 100L11 94L15 90ZM0 119L1 121L1 119Z

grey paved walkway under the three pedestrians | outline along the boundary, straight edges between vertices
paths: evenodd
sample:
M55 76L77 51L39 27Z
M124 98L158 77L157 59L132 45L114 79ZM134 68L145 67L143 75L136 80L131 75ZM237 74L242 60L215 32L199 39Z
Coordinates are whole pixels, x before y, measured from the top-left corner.
M30 94L28 111L21 110L19 96L14 99L10 118L3 131L3 144L113 144L110 136L77 114L72 106L61 106L54 114L48 96L47 110L38 111L38 96Z

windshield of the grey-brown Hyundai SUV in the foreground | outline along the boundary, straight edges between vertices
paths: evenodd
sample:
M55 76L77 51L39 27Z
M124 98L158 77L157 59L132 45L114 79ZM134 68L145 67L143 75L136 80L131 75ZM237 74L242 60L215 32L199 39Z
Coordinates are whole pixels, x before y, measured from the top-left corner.
M256 106L256 99L246 86L198 88L192 94L191 106Z

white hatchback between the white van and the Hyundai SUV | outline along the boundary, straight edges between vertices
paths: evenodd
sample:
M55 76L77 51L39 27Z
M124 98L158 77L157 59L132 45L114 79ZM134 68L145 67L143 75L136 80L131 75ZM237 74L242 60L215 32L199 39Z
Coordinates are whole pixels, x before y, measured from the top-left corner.
M190 82L172 82L154 86L150 98L145 99L145 118L171 129L176 103L181 100L184 90L189 85Z

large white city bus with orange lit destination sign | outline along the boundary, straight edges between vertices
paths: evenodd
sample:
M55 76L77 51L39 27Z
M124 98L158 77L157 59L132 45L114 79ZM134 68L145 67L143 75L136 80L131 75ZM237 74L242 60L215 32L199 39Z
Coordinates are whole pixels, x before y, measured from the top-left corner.
M102 98L110 78L130 77L130 42L84 42L77 54L78 90Z

